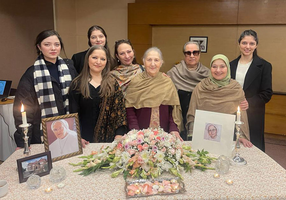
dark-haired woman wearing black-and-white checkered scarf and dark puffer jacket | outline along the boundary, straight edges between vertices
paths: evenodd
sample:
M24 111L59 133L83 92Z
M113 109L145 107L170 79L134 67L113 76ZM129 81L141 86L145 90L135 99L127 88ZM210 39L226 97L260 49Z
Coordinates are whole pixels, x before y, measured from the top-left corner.
M38 57L20 79L13 116L17 131L14 134L17 149L24 147L21 118L21 103L27 114L29 127L28 144L41 144L41 119L69 114L68 90L78 74L70 59L63 59L63 41L53 30L39 33L35 41ZM65 54L65 53L64 53Z

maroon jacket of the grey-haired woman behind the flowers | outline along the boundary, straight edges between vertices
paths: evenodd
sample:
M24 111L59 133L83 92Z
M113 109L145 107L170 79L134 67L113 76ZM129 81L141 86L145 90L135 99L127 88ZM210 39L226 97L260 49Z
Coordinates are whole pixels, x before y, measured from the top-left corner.
M150 125L152 108L140 108L136 109L134 107L126 108L128 127L130 130L136 129L147 129ZM175 124L172 116L173 108L168 105L159 106L160 114L160 127L164 129L165 132L170 133L171 131L178 131L178 126Z

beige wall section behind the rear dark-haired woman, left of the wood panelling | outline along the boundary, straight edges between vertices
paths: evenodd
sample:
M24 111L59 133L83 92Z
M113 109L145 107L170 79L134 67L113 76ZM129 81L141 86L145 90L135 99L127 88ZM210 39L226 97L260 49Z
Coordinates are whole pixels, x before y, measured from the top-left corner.
M135 0L55 0L56 28L67 56L71 58L89 48L87 31L92 25L104 28L113 53L115 41L127 38L127 4L133 2Z

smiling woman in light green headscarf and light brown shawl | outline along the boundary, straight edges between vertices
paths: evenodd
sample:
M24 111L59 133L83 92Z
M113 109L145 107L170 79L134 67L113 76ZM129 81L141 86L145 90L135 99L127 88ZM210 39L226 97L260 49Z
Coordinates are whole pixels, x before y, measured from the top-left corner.
M187 113L186 128L192 136L196 110L206 110L226 114L235 114L237 106L245 100L244 92L236 80L230 78L229 60L222 54L215 55L210 62L210 75L197 84L192 93ZM249 137L247 113L241 111L241 129L239 141L245 147L252 147Z

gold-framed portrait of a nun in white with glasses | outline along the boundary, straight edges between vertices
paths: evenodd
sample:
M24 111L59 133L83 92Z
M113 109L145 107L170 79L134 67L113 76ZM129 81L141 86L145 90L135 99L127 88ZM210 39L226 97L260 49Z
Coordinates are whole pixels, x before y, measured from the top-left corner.
M82 154L78 113L42 119L45 151L52 161Z

